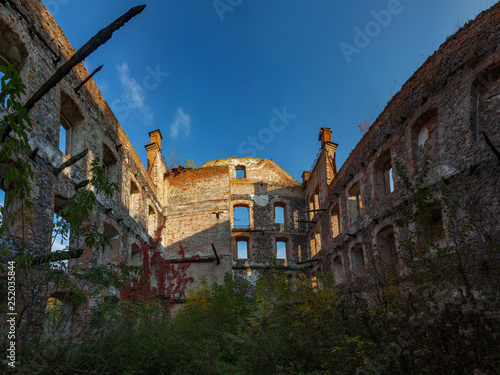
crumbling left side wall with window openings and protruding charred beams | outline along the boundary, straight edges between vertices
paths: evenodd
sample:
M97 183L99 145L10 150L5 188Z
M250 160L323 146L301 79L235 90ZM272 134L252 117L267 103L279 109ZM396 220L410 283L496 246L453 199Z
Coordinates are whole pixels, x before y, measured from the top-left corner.
M7 1L0 5L2 43L0 55L4 63L14 63L31 96L71 55L73 48L52 16L39 1ZM13 53L12 51L18 51ZM103 253L84 248L84 254L70 265L101 262L130 262L131 246L148 238L148 206L161 217L162 205L155 185L139 160L95 83L90 80L78 93L74 88L88 72L82 64L53 88L30 112L33 130L29 134L32 149L37 149L31 162L34 170L32 197L35 207L33 222L23 232L14 233L40 253L50 251L51 224L54 210L76 192L76 185L90 177L92 160L104 163L109 177L118 183L120 192L113 199L98 196L98 204L88 220L103 233L110 233L112 248ZM59 150L61 123L68 122L66 150ZM75 154L89 150L88 155L56 175L54 169ZM106 163L110 163L109 166ZM130 217L130 186L134 181L141 199L136 203L136 216Z

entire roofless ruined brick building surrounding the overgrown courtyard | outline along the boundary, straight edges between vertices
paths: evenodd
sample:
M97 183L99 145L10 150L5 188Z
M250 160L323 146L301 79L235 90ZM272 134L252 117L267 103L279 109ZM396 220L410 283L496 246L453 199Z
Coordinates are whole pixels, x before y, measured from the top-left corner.
M81 188L98 157L120 191L113 199L99 196L89 220L112 246L104 252L85 248L73 264L139 265L141 242L165 222L162 254L175 259L182 246L186 256L198 255L189 268L195 282L220 282L231 273L254 283L272 260L292 277L331 272L337 282L349 282L364 275L374 254L396 254L393 221L408 197L392 173L394 160L415 176L430 154L427 182L444 177L451 191L467 189L479 208L482 240L499 242L499 21L497 4L450 37L391 99L339 170L333 141L341 140L321 128L320 154L302 183L266 159L232 157L169 170L159 130L150 133L144 166L95 83L75 92L88 76L79 64L30 114L29 139L38 149L34 217L14 235L49 251L54 212ZM0 63L15 65L28 97L74 53L39 1L1 1L0 34ZM54 173L87 149L85 158ZM247 220L235 221L235 210ZM445 222L440 208L435 211L435 220Z

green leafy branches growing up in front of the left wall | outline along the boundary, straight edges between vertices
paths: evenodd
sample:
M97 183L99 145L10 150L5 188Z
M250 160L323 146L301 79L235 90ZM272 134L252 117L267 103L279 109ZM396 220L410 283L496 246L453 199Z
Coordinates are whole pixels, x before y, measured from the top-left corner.
M87 331L81 316L76 318L78 308L100 299L113 288L130 285L138 270L137 267L106 265L75 267L72 272L65 272L64 260L83 246L104 250L109 245L109 239L88 221L96 195L111 197L118 188L105 178L98 159L91 164L90 189L80 190L71 197L68 206L58 212L52 228L54 238L60 236L64 242L69 242L68 251L51 252L52 241L49 240L42 249L27 247L24 241L19 241L25 238L25 224L31 221L34 207L30 197L33 170L29 157L32 151L28 142L31 122L21 104L25 86L18 73L12 65L0 66L0 72L0 174L2 188L7 192L5 206L0 209L0 236L13 239L10 246L14 249L11 252L6 248L1 250L0 273L5 273L5 259L15 264L16 348L24 363L23 371L30 372L31 366L46 368L44 361L49 353L57 358L63 356L72 349L73 340ZM21 234L11 233L14 224L20 225ZM2 299L6 292L2 284ZM59 299L51 298L52 295ZM0 327L2 352L8 344L5 329L8 327Z

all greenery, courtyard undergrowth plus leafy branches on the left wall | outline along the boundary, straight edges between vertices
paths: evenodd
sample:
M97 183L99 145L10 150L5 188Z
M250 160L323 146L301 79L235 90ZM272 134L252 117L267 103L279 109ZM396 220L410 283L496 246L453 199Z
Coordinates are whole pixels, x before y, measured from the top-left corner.
M0 165L7 170L9 194L29 208L29 118L18 103L24 89L13 68L1 69L0 102L7 103L10 114L2 119L0 135L8 127L16 135L2 144ZM80 239L96 249L109 245L87 220L96 194L112 196L117 188L98 164L92 164L91 188L71 198L53 229L54 236L73 241L70 250L78 250ZM17 169L19 165L24 167ZM18 290L23 301L20 373L500 373L500 246L478 248L472 236L475 216L463 212L473 205L450 193L445 181L437 192L426 185L428 157L415 179L400 162L395 165L408 194L395 221L403 250L398 257L404 258L411 277L394 272L392 279L340 289L330 276L319 277L316 285L305 275L292 280L272 264L259 274L254 293L229 274L221 285L203 281L172 317L156 296L132 302L108 293L101 299L113 288L131 285L140 267L62 272L47 263L33 267L37 254L23 249L16 258L23 286ZM26 178L20 178L26 171ZM444 213L441 222L435 220L436 206ZM4 214L11 213L7 209ZM22 216L24 210L20 215L29 219ZM9 220L4 219L3 228L9 228ZM484 277L483 269L494 272ZM62 296L47 307L50 290ZM379 298L381 292L385 298ZM90 324L76 327L78 315L68 315L68 305L76 311L98 301ZM43 332L37 337L33 333L40 326Z

